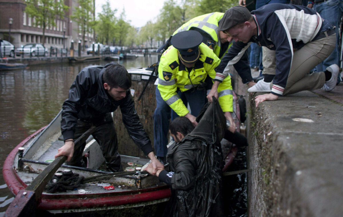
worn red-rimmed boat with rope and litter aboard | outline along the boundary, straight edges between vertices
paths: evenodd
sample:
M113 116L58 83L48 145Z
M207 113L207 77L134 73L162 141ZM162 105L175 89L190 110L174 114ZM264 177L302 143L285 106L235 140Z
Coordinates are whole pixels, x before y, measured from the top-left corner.
M149 80L151 71L139 68L129 70L129 73L133 82L136 81L142 86L142 82ZM150 81L154 82L155 79L156 77ZM152 87L152 89L154 88ZM132 95L134 95L134 91ZM138 96L134 98L138 98ZM237 106L238 103L234 106L236 113L239 112ZM141 117L144 114L139 115ZM114 118L116 118L115 115ZM20 190L24 190L49 165L49 162L53 161L57 149L64 144L60 139L60 121L61 112L48 126L36 131L17 145L6 158L3 165L3 178L14 195ZM147 122L145 121L145 123ZM119 123L118 128L120 128ZM118 136L118 142L122 144L124 141L120 141L120 139ZM74 174L79 174L89 180L81 184L78 189L68 192L43 192L37 212L44 214L47 212L60 216L68 214L71 216L119 216L126 214L129 216L153 216L155 212L161 212L158 211L161 203L166 202L170 196L170 190L166 184L159 182L155 176L147 174L135 176L133 172L132 175L106 176L108 172L100 169L104 158L99 145L92 137L89 137L86 143L84 157L87 168L62 165L59 170L69 169ZM224 156L229 157L229 159L225 159L228 166L232 163L237 151L232 151L234 149L227 143L223 145L229 146L229 148L223 149ZM24 148L23 153L20 153L19 148ZM121 155L121 160L124 168L128 167L128 162L139 166L148 162L148 159L127 155ZM99 176L102 177L92 179L92 177ZM114 186L114 189L106 190L104 188L104 186L109 185Z

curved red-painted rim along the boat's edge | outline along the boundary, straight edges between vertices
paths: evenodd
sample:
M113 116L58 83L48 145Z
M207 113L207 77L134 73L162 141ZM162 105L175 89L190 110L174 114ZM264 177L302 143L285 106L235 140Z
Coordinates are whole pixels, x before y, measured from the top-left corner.
M14 169L14 160L19 151L18 148L23 147L30 141L34 141L35 137L42 133L47 126L37 130L32 135L20 142L5 159L2 173L5 183L10 191L17 195L20 190L24 190L27 185L23 183ZM35 161L38 162L38 161ZM99 170L100 171L100 170ZM106 172L105 172L106 173ZM157 189L157 190L156 190ZM93 194L42 194L38 208L44 210L66 209L66 207L82 208L82 207L102 207L102 206L117 206L131 203L140 203L147 201L160 200L170 197L169 186L158 186L154 188L146 188L133 191L125 191L125 194L119 192L93 193ZM57 199L56 199L57 197ZM122 200L122 201L121 201ZM43 202L43 203L42 203ZM57 207L57 202L60 207ZM75 204L71 206L71 204ZM44 208L43 208L44 207Z

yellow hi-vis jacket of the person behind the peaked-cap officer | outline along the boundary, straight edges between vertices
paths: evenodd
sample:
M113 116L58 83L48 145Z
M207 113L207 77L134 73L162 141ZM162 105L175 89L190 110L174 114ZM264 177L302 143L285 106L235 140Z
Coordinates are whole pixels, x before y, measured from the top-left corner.
M219 37L218 32L218 22L222 19L224 13L220 12L214 12L209 14L203 14L201 16L197 16L189 20L187 23L182 25L180 28L178 28L173 35L180 31L186 31L190 28L199 28L208 33L213 41L215 42L214 47L210 47L213 52L221 59L223 56L219 56L220 54L220 48L221 48L221 41ZM232 43L231 43L232 44ZM227 50L231 46L231 44L228 46ZM224 52L224 54L227 52L227 50Z

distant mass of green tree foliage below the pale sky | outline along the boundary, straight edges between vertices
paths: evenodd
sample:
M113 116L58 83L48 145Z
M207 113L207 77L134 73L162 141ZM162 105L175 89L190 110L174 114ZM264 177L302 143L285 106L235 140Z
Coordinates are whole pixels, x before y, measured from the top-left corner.
M81 0L80 0L81 1ZM87 1L87 0L85 0ZM163 8L157 15L157 21L149 21L138 29L126 20L125 10L115 17L117 9L111 10L109 1L103 5L94 25L98 41L120 46L152 47L158 41L158 47L182 24L191 18L212 12L225 12L238 5L238 0L165 0Z

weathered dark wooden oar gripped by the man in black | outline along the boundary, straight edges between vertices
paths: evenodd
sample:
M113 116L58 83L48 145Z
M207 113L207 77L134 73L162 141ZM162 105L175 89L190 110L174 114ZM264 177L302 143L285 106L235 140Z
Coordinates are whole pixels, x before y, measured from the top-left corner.
M76 141L83 143L95 131L95 126L84 132ZM54 176L57 169L67 160L67 156L59 156L49 164L26 188L20 190L6 210L6 217L36 216L37 202L39 201L48 181Z

